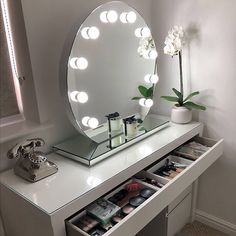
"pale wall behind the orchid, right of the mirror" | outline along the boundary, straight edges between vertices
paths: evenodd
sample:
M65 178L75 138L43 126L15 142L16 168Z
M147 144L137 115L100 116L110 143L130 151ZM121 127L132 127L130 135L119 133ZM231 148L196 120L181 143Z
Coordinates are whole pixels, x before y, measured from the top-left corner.
M236 1L153 1L152 26L159 49L160 83L153 110L170 115L171 105L161 101L179 86L177 58L163 55L167 31L182 25L190 35L184 50L186 90L201 91L197 99L206 112L195 113L205 135L225 139L224 155L200 178L198 209L236 225ZM185 83L186 85L186 83Z

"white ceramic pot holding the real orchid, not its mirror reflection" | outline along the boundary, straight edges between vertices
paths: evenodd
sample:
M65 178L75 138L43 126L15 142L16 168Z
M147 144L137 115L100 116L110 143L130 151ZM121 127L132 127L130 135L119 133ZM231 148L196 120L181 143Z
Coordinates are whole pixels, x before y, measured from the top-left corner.
M174 106L171 110L171 121L177 124L186 124L192 120L192 110L186 107Z

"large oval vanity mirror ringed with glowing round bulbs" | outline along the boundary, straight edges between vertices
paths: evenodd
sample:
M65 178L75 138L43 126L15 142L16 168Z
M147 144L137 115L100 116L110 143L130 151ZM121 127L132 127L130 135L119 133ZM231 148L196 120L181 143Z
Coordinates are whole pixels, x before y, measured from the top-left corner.
M76 31L62 80L67 78L65 97L78 130L93 139L115 112L143 119L153 104L158 54L142 16L126 3L109 2Z

